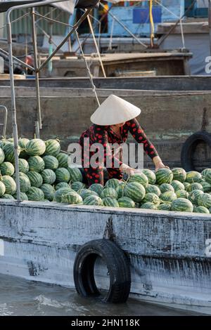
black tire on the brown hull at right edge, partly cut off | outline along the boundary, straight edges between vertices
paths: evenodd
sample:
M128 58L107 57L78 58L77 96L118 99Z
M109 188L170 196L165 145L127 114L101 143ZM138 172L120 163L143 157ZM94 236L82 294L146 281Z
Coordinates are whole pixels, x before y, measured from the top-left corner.
M192 134L192 136L189 136L184 143L181 149L181 166L186 171L196 170L193 164L193 153L196 150L198 143L201 143L202 141L207 143L211 148L211 134L205 131L199 131Z

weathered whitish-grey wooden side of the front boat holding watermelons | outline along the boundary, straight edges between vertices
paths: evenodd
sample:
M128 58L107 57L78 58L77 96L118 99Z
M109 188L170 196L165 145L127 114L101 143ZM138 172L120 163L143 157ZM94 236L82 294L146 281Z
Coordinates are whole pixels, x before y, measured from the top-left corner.
M73 286L75 253L85 242L103 238L108 223L130 258L137 298L204 306L211 313L209 215L1 199L0 272Z

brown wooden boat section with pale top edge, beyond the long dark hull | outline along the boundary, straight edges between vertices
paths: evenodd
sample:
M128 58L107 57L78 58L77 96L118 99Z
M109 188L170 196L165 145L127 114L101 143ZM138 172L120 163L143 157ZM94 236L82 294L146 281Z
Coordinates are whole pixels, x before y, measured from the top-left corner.
M191 53L112 53L103 54L101 60L106 77L114 77L121 70L155 70L157 75L182 75L186 72ZM94 77L103 77L98 56L87 55L89 70ZM49 74L46 67L40 77L87 77L87 70L82 58L72 57L65 60L53 60L53 70Z

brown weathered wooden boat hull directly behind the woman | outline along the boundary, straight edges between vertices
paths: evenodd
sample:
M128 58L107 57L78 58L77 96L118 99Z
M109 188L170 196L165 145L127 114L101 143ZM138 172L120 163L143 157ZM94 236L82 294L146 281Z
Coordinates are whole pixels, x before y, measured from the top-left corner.
M32 138L34 136L34 121L36 121L36 100L32 97L34 89L17 89L18 95L30 96L16 99L18 133L21 137ZM180 91L156 92L156 91L131 91L131 90L103 90L97 91L100 102L114 92L129 102L141 108L139 122L151 138L162 160L170 167L180 166L181 146L192 133L200 131L203 118L206 117L205 129L211 133L211 93ZM2 88L0 92L1 105L11 108L9 89ZM41 95L47 95L48 88L41 89ZM4 95L2 95L4 94ZM53 94L53 95L52 95ZM7 97L5 95L8 95ZM63 150L68 144L78 141L79 136L91 124L90 116L96 110L97 103L92 91L79 89L51 88L51 96L41 97L41 114L43 128L41 138L60 138ZM0 114L0 122L3 122ZM8 136L11 136L11 116L8 117ZM133 141L133 140L131 140ZM203 166L210 166L210 150L204 146L200 156ZM145 166L152 166L151 159L145 155ZM201 164L199 164L200 166Z

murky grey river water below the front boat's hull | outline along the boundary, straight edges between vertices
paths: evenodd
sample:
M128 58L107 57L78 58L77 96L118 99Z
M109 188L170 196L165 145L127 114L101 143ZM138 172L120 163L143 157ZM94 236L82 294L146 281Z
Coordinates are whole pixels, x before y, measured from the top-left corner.
M196 315L129 299L120 305L84 299L74 289L0 275L0 315Z

